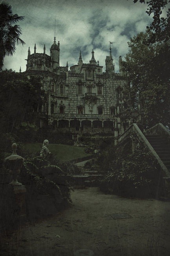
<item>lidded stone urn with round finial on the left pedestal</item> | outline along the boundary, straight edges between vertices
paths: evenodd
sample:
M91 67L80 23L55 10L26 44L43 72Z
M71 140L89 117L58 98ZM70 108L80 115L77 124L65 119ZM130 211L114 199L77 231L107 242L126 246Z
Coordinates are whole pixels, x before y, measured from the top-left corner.
M5 164L9 169L9 173L12 174L12 182L9 184L13 186L22 186L22 183L18 182L17 176L21 171L22 164L24 162L24 158L22 156L18 156L16 154L17 144L13 143L12 145L12 154L5 158Z

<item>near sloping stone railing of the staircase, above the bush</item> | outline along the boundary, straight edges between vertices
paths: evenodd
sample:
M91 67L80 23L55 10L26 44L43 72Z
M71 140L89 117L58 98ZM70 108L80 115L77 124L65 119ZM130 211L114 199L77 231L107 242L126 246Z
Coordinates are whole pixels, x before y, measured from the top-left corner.
M118 139L119 142L124 141L125 139L127 139L128 137L130 137L132 135L132 132L135 132L135 134L137 135L137 138L139 139L139 141L141 141L143 143L143 145L148 148L148 150L152 153L152 155L154 156L154 158L157 160L157 162L159 163L161 170L163 171L163 175L165 176L165 178L170 178L170 173L167 170L166 166L163 164L162 160L159 158L159 156L157 155L157 153L155 152L154 148L150 145L149 141L146 139L146 137L144 136L144 134L141 132L141 130L139 129L139 127L137 126L137 124L132 124Z

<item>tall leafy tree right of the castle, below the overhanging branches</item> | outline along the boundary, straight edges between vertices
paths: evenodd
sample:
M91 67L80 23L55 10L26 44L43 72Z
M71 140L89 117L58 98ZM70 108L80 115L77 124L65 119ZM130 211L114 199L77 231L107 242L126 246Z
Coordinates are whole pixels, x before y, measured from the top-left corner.
M124 70L131 83L134 105L138 98L141 100L147 126L157 122L170 126L170 47L168 42L148 44L150 35L151 32L141 32L130 39Z

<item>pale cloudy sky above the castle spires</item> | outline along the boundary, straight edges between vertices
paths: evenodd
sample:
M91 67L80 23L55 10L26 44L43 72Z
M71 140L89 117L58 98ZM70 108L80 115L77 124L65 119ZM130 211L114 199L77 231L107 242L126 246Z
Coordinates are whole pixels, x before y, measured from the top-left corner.
M60 66L77 64L79 51L84 63L91 59L94 49L95 59L104 66L109 55L109 41L115 72L119 72L118 60L128 53L127 42L152 22L145 13L147 5L133 0L7 0L13 13L25 16L19 24L24 46L16 46L13 57L5 57L3 69L22 72L26 70L27 50L31 54L36 43L37 52L46 54L53 44L56 19L56 41L60 41Z

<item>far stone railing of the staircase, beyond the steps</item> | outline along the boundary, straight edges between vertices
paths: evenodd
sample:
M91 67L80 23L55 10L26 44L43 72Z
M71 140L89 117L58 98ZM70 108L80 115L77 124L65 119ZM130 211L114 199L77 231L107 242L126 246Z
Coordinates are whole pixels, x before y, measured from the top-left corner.
M157 134L161 135L162 137L166 138L168 142L170 142L170 132L168 129L161 123L156 124L155 126L151 127L150 129L144 132L145 135L152 135Z

